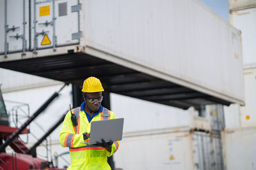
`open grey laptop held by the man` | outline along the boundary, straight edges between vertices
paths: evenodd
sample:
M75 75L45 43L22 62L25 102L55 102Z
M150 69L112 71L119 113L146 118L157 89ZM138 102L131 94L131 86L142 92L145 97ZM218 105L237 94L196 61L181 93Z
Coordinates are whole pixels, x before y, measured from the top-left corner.
M124 118L110 120L99 120L91 123L90 142L83 142L88 145L95 145L104 139L109 141L121 141L123 137Z

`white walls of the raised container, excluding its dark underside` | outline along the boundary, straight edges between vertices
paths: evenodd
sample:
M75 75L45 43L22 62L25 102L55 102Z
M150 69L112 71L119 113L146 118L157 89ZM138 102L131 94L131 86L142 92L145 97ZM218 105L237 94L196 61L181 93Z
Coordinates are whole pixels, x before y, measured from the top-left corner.
M20 36L10 36L23 33L0 28L1 46L5 46L0 50L2 62L74 50L244 104L240 32L200 1L34 0L30 20L29 2L23 2L13 13L19 15L16 20L10 16L16 4L1 1L1 8L7 6L1 23L10 28L20 25L19 20L24 32L30 33L30 38L24 37L26 55L21 55ZM26 22L21 21L23 15Z

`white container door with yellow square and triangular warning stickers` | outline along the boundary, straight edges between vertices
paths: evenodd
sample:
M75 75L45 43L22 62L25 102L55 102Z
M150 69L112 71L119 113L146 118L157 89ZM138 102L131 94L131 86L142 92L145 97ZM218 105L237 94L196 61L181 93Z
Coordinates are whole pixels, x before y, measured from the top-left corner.
M31 43L33 51L79 43L77 0L33 0Z

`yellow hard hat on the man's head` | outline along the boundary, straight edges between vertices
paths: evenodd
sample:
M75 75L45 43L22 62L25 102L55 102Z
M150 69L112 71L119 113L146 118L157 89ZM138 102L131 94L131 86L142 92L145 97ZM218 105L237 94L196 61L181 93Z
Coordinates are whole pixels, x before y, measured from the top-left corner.
M100 80L95 77L89 77L84 80L82 92L103 92L104 89L100 83Z

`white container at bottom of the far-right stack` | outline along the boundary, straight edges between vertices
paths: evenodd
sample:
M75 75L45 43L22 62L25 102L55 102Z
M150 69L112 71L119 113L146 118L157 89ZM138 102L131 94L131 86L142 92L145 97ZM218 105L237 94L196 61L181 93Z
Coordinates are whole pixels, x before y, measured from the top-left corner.
M226 129L221 136L227 170L256 169L256 127Z

